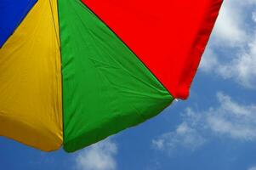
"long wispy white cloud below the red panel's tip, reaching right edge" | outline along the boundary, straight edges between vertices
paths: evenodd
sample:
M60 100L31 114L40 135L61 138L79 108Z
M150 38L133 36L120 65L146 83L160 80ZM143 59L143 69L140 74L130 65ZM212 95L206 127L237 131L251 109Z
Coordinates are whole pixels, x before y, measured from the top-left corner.
M230 96L218 93L219 105L207 111L187 108L183 122L172 132L152 140L157 150L186 148L196 150L205 144L208 136L241 141L256 140L256 105L242 105Z

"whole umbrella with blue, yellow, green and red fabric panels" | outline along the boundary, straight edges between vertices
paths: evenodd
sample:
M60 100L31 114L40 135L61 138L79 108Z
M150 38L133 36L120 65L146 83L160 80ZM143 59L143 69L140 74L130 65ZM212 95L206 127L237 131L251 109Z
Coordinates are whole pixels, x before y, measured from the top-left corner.
M82 149L186 99L222 0L1 0L0 135Z

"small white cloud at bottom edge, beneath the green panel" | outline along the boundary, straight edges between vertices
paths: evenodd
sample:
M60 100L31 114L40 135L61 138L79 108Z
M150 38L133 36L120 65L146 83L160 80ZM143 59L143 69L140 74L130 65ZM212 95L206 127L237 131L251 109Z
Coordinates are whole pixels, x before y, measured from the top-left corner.
M115 170L117 162L117 144L111 139L106 139L100 143L80 151L76 157L77 170Z

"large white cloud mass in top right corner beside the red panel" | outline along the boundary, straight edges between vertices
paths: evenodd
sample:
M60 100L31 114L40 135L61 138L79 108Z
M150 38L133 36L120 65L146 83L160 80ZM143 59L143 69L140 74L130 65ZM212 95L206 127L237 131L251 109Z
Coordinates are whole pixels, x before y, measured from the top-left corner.
M247 27L256 26L252 5L256 5L253 0L225 1L200 68L206 73L235 80L245 88L255 89L256 32L247 30ZM250 15L251 19L247 17ZM221 54L224 48L228 53Z

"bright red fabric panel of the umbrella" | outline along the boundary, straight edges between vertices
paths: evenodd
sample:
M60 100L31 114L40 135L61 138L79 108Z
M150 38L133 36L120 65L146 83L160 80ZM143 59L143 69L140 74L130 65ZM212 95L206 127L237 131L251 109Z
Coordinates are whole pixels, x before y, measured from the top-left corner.
M222 0L82 0L175 98L186 99Z

